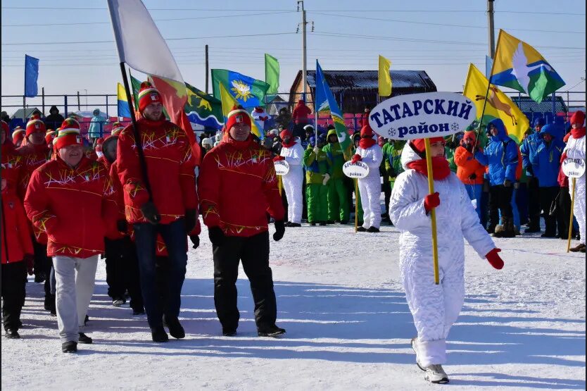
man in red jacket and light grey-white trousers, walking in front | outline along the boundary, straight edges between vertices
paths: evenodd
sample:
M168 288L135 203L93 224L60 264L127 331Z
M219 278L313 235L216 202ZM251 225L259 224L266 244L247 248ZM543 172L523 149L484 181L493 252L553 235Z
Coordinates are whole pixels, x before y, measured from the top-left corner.
M83 154L80 124L67 118L53 146L55 159L32 173L25 210L35 228L48 238L57 281L57 325L64 353L77 352L77 342L91 343L82 333L104 236L117 230L118 206L106 168Z

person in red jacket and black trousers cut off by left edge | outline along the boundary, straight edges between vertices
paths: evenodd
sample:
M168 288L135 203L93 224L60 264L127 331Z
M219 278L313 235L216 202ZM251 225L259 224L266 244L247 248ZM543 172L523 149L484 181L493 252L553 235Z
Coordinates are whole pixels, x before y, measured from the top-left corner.
M32 274L32 242L30 229L17 196L22 161L8 137L8 124L1 121L2 202L2 325L8 338L20 338L20 311L25 304L27 269Z

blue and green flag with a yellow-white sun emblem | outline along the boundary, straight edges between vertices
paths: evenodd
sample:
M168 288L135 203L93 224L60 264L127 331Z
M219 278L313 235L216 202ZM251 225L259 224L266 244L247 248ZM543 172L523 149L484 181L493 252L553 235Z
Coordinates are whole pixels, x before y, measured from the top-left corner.
M227 87L232 97L244 108L265 106L265 95L269 85L263 80L256 80L232 70L213 69L212 90L216 99L220 99L220 83Z

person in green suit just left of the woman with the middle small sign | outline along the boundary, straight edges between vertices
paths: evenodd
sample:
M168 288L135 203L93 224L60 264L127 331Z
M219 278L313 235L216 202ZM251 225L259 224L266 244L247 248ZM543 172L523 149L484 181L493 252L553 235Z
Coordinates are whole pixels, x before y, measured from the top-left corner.
M332 161L332 174L328 181L328 221L334 224L334 221L340 221L341 224L347 224L349 219L348 199L346 197L346 186L344 185L343 165L345 163L339 138L336 136L336 130L331 129L327 135L328 144L322 148L326 152L330 161Z

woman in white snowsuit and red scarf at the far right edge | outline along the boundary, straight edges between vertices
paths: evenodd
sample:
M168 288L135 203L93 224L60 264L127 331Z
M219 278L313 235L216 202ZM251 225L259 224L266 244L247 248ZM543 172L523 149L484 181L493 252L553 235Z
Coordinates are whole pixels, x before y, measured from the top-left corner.
M571 135L567 146L564 147L562 160L565 158L583 159L585 161L585 113L576 111L571 117ZM570 191L572 192L572 180L569 180ZM581 240L576 247L571 249L572 252L585 252L585 173L581 178L576 178L575 187L575 204L573 214L579 223L579 235Z

